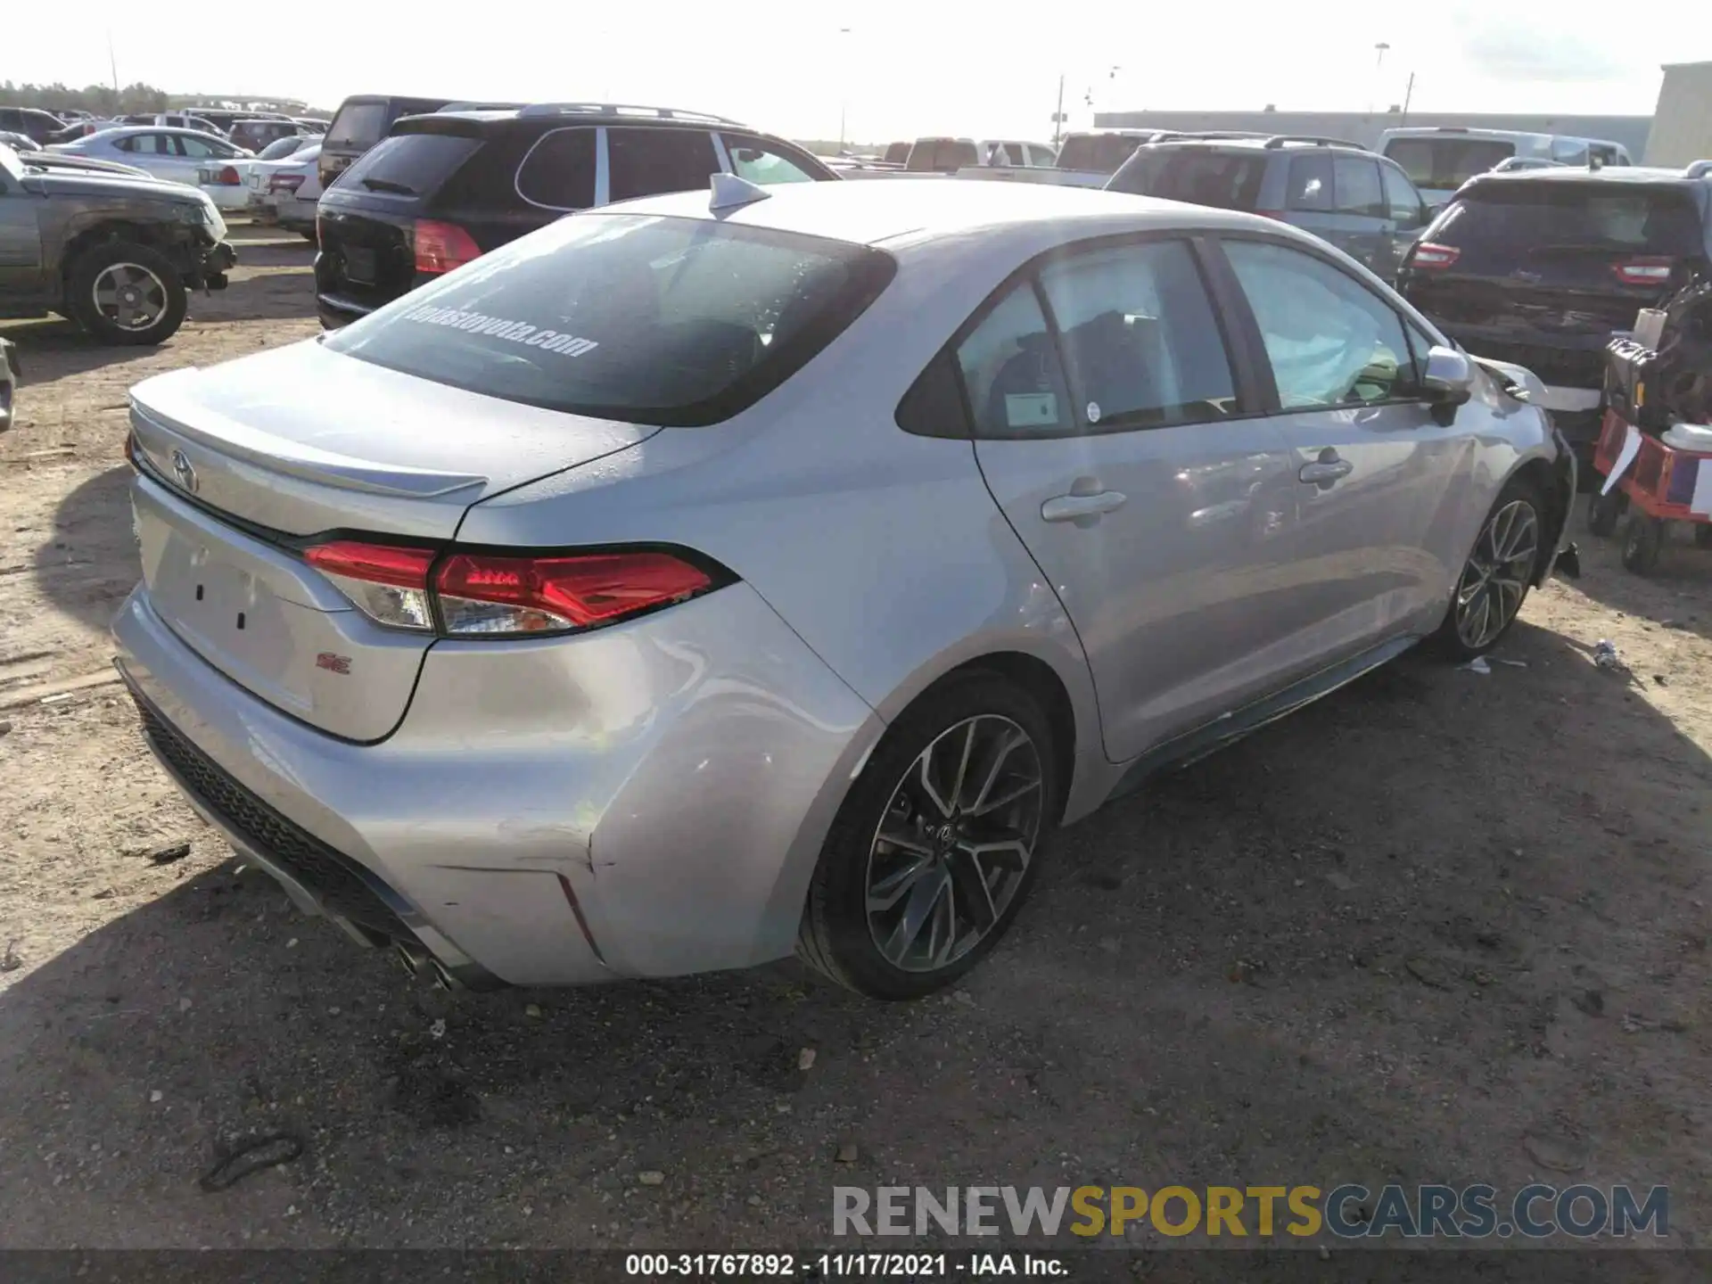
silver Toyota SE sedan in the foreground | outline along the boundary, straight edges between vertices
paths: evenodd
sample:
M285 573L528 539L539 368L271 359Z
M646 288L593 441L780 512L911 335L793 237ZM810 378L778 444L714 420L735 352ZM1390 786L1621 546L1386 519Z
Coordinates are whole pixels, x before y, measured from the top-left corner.
M137 385L118 664L192 803L421 972L907 998L1055 827L1493 647L1573 493L1532 389L1274 221L716 176Z

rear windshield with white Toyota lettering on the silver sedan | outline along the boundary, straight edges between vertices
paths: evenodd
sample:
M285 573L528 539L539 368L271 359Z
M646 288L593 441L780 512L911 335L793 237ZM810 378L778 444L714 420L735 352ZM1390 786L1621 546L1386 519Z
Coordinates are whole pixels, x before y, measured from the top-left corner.
M640 214L574 214L324 339L503 401L692 426L753 404L892 279L868 247Z

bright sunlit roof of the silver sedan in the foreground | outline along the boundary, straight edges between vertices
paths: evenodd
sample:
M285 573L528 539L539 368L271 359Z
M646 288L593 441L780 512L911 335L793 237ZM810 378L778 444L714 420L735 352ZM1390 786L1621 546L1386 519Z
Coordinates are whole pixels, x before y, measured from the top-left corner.
M856 245L911 245L947 238L1003 240L1019 245L1147 228L1263 228L1282 224L1253 214L1132 197L1084 187L990 183L957 178L894 178L871 183L781 183L767 199L712 211L707 192L676 192L606 205L623 214L716 219L750 228L825 236ZM1037 253L1037 250L1029 250Z

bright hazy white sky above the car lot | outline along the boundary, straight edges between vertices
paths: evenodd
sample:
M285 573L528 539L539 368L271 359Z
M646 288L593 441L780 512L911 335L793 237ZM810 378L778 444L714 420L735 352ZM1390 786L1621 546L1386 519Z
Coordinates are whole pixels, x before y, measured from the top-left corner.
M1633 19L1609 0L348 0L296 10L86 0L75 24L51 5L10 9L0 80L106 80L111 33L122 82L175 92L320 106L375 91L601 98L717 111L794 137L837 137L842 111L847 137L865 142L1046 137L1060 74L1075 127L1120 108L1383 108L1402 99L1411 72L1423 111L1645 115L1659 63L1712 60L1712 5L1681 0L1635 7Z

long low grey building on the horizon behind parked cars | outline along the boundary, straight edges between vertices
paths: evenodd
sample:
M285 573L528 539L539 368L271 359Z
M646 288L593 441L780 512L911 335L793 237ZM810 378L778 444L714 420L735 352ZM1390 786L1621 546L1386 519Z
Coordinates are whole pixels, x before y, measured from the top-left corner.
M1700 103L1712 92L1712 63L1697 63L1703 77ZM1671 68L1666 68L1669 72ZM1666 75L1666 86L1669 77ZM1661 98L1662 103L1662 98ZM1700 128L1712 128L1705 106ZM1524 130L1527 134L1573 134L1580 139L1606 139L1628 147L1630 156L1647 149L1652 116L1580 116L1565 113L1496 115L1471 111L1099 111L1096 128L1144 130L1257 130L1267 134L1310 134L1323 139L1347 139L1371 147L1380 134L1400 125L1460 125L1481 130Z

